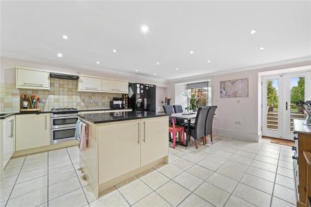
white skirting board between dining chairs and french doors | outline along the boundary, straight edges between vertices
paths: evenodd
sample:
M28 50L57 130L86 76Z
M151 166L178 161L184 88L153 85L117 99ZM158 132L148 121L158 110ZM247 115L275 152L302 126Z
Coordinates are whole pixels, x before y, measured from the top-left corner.
M222 135L222 136L227 136L230 138L236 138L241 141L251 141L251 142L258 142L259 136L256 133L252 132L238 132L238 131L233 131L229 129L220 129L220 128L213 128L215 134L217 135Z

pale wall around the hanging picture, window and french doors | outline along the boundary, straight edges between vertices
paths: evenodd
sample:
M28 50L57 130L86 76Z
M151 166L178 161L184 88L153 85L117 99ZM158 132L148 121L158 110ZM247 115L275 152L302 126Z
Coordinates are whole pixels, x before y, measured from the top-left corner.
M176 94L174 85L180 82L211 80L212 104L218 106L214 118L214 133L238 138L245 141L258 141L258 73L311 65L311 61L262 66L259 69L227 73L223 75L201 75L198 77L171 80L168 91ZM249 97L220 98L220 81L249 78ZM174 100L178 103L176 100ZM172 104L174 104L174 101ZM240 122L241 124L236 124Z

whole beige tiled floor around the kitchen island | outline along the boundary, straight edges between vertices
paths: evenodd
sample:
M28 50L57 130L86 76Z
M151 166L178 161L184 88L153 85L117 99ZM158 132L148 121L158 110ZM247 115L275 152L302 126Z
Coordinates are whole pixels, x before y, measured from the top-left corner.
M148 170L95 200L81 179L77 147L11 159L1 206L295 206L292 150L216 136L169 148L169 164Z

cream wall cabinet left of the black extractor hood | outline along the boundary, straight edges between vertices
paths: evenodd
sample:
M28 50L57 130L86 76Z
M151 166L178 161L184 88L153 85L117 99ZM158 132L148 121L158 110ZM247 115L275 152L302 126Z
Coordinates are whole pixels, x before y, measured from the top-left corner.
M16 68L17 89L50 90L50 73L35 69Z

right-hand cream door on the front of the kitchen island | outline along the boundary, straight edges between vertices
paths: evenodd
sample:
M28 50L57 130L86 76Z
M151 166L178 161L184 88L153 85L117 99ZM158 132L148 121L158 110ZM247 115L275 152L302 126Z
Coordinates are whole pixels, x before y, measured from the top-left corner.
M141 120L142 165L156 161L169 152L167 123L167 116Z

